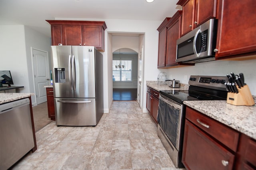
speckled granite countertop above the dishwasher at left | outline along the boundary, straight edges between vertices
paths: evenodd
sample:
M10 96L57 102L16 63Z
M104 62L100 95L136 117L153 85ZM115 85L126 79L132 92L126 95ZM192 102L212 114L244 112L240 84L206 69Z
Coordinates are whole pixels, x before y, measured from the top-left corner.
M23 99L35 95L34 93L0 93L0 104Z

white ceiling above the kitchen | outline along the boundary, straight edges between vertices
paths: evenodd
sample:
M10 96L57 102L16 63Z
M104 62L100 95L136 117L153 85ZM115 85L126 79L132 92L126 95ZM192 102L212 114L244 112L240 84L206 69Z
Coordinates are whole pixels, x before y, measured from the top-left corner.
M26 25L50 37L45 20L129 19L159 20L171 17L178 0L0 0L0 25Z

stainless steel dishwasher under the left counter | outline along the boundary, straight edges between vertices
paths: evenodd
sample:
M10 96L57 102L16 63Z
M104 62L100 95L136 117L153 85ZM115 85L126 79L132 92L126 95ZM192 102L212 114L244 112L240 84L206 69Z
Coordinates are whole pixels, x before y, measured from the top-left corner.
M28 98L0 105L0 170L10 168L34 147Z

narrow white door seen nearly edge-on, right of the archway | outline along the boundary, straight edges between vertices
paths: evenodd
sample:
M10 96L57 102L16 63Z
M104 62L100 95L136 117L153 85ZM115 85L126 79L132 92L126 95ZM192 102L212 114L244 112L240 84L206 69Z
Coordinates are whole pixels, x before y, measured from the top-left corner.
M142 69L143 69L143 46L141 48L141 51L139 52L139 59L138 59L138 103L140 105L140 108L142 108Z

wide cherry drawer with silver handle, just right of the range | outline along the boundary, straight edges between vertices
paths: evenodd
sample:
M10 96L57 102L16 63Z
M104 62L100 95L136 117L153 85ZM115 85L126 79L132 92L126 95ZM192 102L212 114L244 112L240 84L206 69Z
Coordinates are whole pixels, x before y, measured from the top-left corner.
M186 108L186 119L236 152L239 139L238 132L189 107Z

